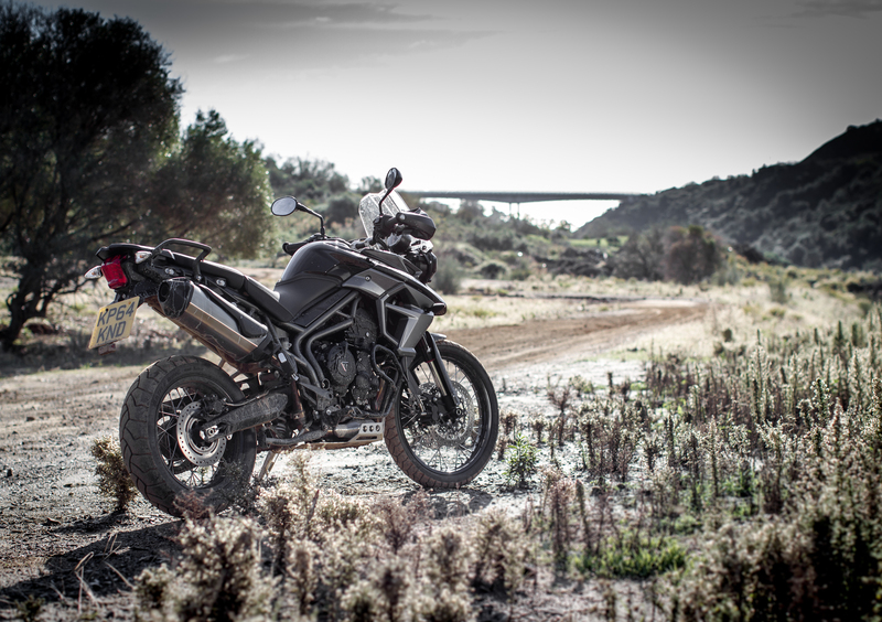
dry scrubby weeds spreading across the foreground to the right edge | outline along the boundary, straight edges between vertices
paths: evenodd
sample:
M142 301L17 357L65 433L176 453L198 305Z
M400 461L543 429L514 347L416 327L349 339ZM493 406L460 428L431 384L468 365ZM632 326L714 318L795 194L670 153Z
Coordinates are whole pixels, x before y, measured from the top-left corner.
M269 587L225 607L470 620L476 594L514 599L529 566L547 564L557 576L653 578L655 613L673 621L872 619L882 613L880 344L871 311L857 328L761 333L710 361L656 354L642 383L610 376L605 390L557 389L548 450L578 443L581 464L545 470L541 506L523 519L486 512L464 529L426 528L424 496L355 503L319 489L297 462L289 482L258 495L265 530L227 527L245 560L230 593L256 578ZM545 420L530 421L541 438ZM539 449L518 428L504 415L505 478L526 486ZM214 611L214 583L185 561L191 549L198 559L216 550L202 537L191 536L203 544L185 546L178 566L142 577L143 602L162 603L144 611L180 619L174 594L187 586L203 594L191 615ZM257 537L268 543L262 567L247 554ZM235 557L212 555L222 566ZM611 619L617 599L610 586Z

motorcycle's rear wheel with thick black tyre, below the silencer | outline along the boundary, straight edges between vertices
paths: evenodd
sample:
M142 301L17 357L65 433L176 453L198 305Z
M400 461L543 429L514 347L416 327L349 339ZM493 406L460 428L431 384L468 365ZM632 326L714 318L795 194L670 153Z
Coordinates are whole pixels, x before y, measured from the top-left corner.
M182 513L175 501L189 494L206 510L222 512L255 465L254 430L213 443L190 432L202 420L201 400L209 396L229 401L244 397L219 367L194 356L153 363L126 395L119 419L126 468L141 494L173 516Z

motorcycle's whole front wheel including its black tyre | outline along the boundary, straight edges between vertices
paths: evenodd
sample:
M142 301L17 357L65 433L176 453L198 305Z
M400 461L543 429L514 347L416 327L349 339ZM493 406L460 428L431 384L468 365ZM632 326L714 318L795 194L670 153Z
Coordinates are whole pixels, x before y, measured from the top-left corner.
M438 344L461 411L450 423L411 412L408 389L386 419L385 440L396 464L415 482L434 489L459 487L484 469L496 447L499 407L484 367L463 346ZM417 382L424 404L440 396L429 365L417 360Z

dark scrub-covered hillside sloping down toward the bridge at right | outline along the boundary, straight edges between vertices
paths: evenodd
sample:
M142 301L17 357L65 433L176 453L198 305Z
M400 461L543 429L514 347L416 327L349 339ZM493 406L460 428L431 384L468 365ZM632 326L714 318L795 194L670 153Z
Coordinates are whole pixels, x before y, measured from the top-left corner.
M882 120L849 127L795 164L638 197L574 237L689 224L799 266L882 271Z

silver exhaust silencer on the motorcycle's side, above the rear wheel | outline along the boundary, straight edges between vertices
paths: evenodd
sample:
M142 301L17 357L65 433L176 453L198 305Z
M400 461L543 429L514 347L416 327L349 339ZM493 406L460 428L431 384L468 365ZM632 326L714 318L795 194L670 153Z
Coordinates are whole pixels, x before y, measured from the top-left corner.
M245 360L270 341L267 326L190 279L163 281L157 299L163 315L230 363Z

